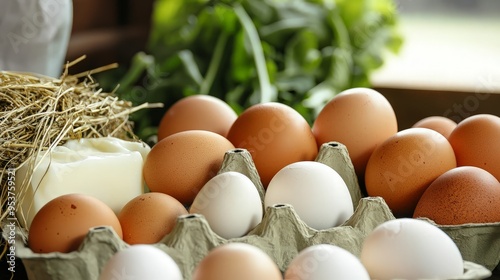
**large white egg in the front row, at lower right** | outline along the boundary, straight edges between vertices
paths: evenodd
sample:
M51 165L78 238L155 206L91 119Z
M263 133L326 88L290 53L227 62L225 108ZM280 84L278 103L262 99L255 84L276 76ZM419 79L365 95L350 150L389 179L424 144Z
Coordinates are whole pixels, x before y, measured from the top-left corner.
M417 219L384 222L366 237L361 262L373 279L454 279L462 255L438 227Z

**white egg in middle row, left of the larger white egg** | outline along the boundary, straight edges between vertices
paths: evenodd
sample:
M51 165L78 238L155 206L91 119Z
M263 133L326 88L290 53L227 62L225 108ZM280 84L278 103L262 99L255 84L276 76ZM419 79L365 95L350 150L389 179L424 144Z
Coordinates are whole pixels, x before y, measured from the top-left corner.
M244 236L263 216L257 188L247 176L234 171L210 179L196 195L189 212L203 215L210 228L226 239Z

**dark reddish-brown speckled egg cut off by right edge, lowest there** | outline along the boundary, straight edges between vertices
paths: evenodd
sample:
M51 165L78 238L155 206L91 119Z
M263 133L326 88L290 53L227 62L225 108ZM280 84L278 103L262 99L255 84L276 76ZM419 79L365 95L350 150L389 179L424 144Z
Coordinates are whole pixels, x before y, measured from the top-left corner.
M500 222L500 182L474 166L453 168L424 192L414 218L426 217L440 225Z

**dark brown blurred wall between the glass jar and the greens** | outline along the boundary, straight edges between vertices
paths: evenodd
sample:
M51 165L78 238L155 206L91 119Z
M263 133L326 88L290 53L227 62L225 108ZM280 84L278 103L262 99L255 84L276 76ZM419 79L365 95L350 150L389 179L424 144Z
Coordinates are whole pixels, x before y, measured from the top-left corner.
M154 0L73 0L73 27L66 61L86 59L71 73L110 63L126 64L144 50Z

